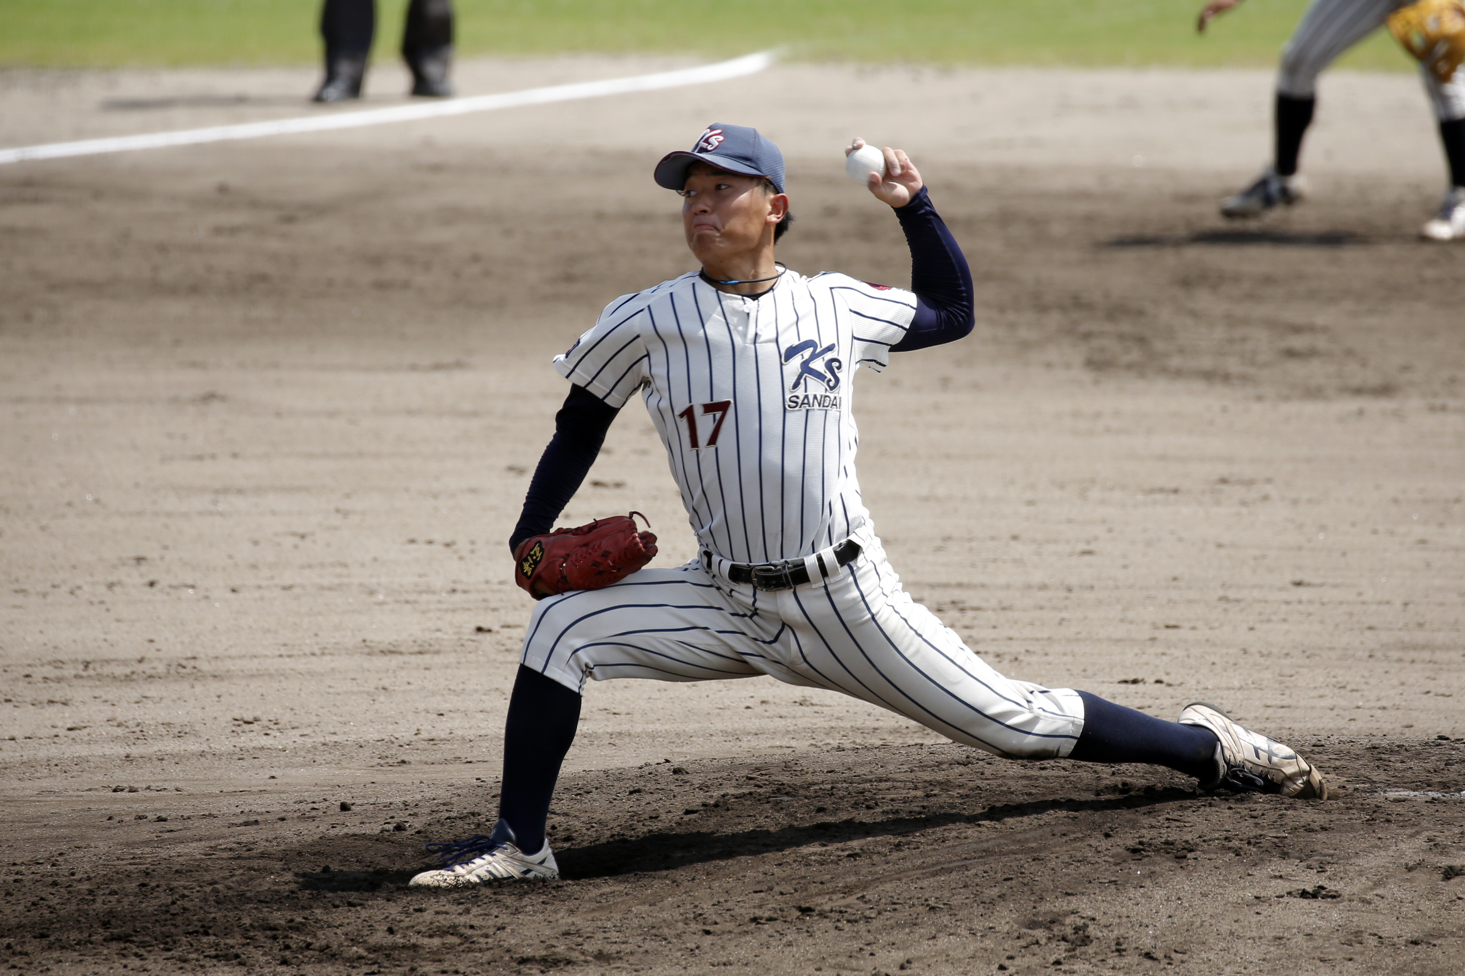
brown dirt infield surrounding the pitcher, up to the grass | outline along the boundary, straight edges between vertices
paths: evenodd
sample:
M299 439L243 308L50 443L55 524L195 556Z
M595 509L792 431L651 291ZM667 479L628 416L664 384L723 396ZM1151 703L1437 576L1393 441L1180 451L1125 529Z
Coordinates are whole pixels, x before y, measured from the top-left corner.
M6 80L22 145L296 114L311 76ZM1332 82L1316 199L1261 225L1214 217L1261 158L1261 75L788 67L0 168L0 958L1458 972L1465 252L1414 239L1417 82ZM551 818L565 879L404 888L492 817L546 360L687 269L648 170L722 117L790 152L788 265L907 281L831 155L856 130L911 151L971 258L977 334L858 380L907 588L1008 673L1217 701L1338 799L1004 764L772 680L607 682ZM690 556L634 405L565 519L628 508Z

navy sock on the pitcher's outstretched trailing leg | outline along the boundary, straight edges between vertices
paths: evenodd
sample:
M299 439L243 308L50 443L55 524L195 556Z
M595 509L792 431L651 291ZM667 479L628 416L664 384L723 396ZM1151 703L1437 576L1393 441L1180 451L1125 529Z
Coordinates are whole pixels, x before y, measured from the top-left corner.
M1069 759L1149 762L1201 783L1216 778L1216 735L1210 729L1154 718L1086 691L1078 697L1084 699L1084 730Z

